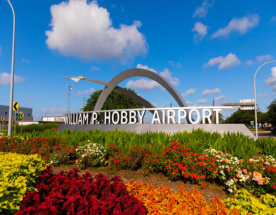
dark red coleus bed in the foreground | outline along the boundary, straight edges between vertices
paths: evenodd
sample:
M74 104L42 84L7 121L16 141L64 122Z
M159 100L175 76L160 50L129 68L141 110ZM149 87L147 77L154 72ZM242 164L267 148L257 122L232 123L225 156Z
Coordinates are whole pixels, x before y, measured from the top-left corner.
M128 194L119 176L109 180L98 174L93 179L90 173L82 177L78 173L71 169L53 174L48 166L39 176L38 191L27 193L16 215L147 213L143 202Z

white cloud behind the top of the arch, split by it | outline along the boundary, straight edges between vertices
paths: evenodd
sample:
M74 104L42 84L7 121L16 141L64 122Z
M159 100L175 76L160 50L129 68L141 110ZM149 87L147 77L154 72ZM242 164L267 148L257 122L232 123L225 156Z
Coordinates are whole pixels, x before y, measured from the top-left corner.
M147 69L157 73L156 70L154 70L153 68L149 68L147 65L137 64L136 68ZM165 68L162 72L160 72L159 75L166 78L169 82L171 82L172 85L174 86L179 85L179 79L176 77L172 77L171 72L167 68ZM133 81L133 80L128 81L126 84L126 87L142 89L142 90L153 90L155 89L155 87L161 88L161 85L159 85L159 83L155 82L154 80L150 80L148 78L140 78L136 81Z

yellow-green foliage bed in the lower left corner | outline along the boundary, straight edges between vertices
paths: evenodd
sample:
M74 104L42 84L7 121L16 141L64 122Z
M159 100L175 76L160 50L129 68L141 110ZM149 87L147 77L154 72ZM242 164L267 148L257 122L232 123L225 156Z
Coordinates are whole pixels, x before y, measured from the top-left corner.
M26 192L34 191L44 161L38 155L0 152L0 214L14 214Z

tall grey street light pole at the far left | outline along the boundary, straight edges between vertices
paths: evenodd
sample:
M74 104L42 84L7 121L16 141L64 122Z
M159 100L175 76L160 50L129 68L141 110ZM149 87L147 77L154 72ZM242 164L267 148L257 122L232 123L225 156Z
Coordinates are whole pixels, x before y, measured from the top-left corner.
M9 108L9 125L8 125L8 135L11 135L12 128L12 117L13 117L13 76L14 76L14 46L15 46L15 13L13 10L13 5L7 0L13 11L13 56L12 56L12 69L10 76L10 108Z

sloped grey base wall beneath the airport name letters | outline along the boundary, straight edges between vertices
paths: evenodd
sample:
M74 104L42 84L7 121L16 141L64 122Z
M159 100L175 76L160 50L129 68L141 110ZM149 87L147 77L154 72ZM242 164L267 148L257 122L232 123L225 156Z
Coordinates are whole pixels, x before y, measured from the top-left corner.
M244 124L85 124L85 125L60 125L57 130L62 131L63 129L70 129L72 131L82 130L89 131L90 129L101 129L102 131L110 131L114 129L125 130L125 131L136 131L137 133L147 131L164 131L167 133L174 133L178 131L192 131L192 129L205 129L205 131L215 132L223 134L224 132L230 131L230 133L243 133L249 137L256 137Z

